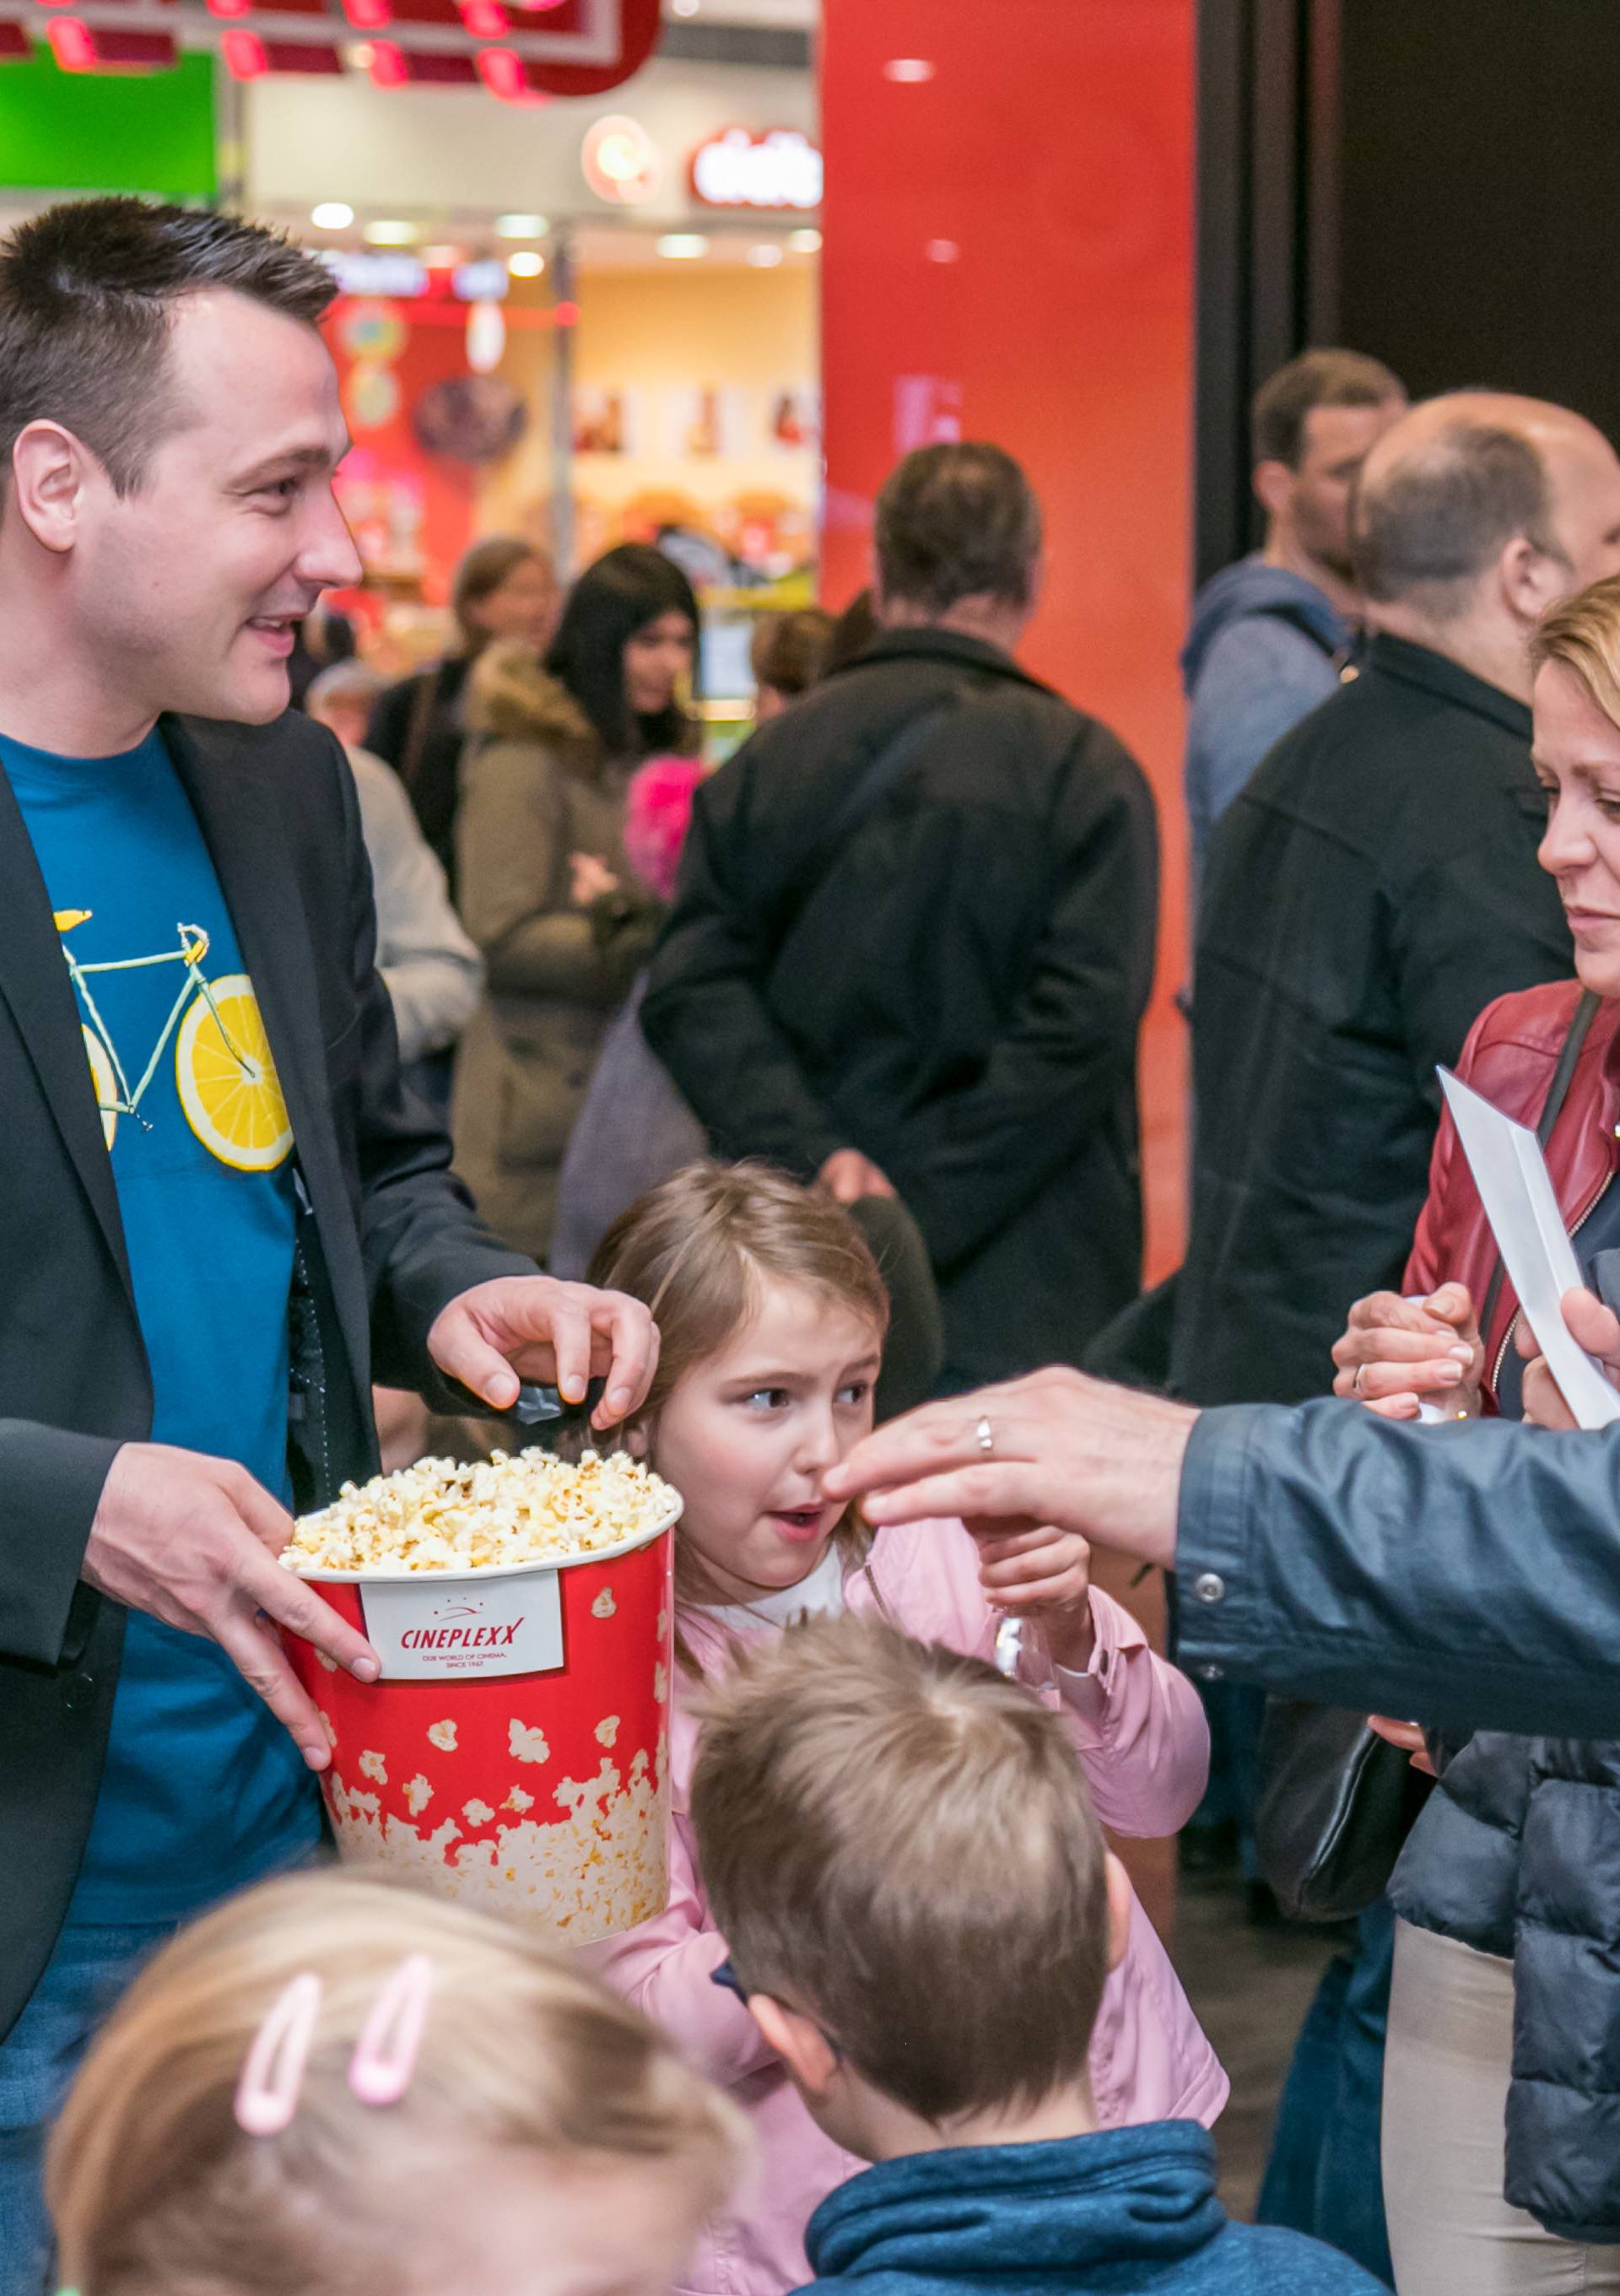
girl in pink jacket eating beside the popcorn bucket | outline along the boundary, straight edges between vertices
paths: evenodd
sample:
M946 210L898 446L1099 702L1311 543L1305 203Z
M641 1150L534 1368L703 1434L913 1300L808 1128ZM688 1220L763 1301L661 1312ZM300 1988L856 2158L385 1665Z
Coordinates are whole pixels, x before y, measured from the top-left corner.
M1083 1541L996 1538L927 1522L867 1536L821 1476L872 1426L888 1300L849 1215L762 1166L695 1164L603 1238L592 1281L645 1300L663 1352L629 1442L686 1499L675 1545L677 1715L670 1908L599 1947L599 1965L753 2119L764 2161L746 2206L709 2227L686 2282L778 2296L810 2278L810 2211L860 2163L819 2135L730 1991L686 1818L693 1692L739 1642L801 1612L881 1612L920 1642L991 1655L1005 1614L1039 1621L1097 1805L1124 1835L1170 1835L1207 1768L1198 1697L1088 1584ZM1090 2057L1101 2122L1214 2122L1228 2082L1136 1908Z

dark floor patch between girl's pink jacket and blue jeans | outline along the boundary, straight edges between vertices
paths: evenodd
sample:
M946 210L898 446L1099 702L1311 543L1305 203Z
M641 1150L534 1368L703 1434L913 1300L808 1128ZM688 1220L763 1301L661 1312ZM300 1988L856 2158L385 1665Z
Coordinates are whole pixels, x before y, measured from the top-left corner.
M1175 1965L1232 2080L1216 2126L1221 2197L1232 2216L1253 2216L1294 2034L1331 1952L1322 1929L1251 1929L1230 1885L1182 1880Z

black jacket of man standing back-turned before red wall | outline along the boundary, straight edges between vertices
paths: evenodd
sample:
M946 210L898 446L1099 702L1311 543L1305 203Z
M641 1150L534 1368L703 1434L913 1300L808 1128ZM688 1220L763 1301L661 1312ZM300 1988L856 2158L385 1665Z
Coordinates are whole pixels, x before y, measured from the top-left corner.
M1108 728L978 638L895 631L698 792L642 1031L725 1155L888 1173L952 1380L1078 1362L1140 1281L1154 912L1152 797Z

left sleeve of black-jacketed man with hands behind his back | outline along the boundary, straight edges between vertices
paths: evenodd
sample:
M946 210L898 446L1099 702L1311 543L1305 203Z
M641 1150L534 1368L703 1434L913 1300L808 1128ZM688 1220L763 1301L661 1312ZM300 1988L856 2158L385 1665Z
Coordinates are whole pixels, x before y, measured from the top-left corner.
M851 1141L760 987L764 953L746 905L748 774L750 760L732 758L693 799L640 1026L716 1141L746 1143L808 1180Z

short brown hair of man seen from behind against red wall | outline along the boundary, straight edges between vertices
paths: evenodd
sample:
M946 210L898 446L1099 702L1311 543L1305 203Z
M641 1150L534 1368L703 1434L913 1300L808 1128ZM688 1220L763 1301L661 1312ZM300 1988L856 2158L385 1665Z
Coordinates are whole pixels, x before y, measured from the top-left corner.
M964 597L1028 606L1042 512L998 445L920 445L877 498L877 569L886 599L945 613Z

